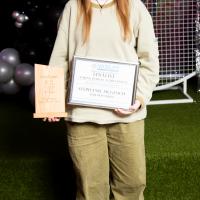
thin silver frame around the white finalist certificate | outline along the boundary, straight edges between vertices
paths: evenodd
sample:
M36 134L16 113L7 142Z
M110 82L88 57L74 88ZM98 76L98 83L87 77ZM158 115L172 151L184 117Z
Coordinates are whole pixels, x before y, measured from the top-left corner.
M136 88L137 88L137 81L138 81L138 72L139 72L139 63L138 62L119 62L116 60L102 60L102 59L97 59L97 58L91 58L91 57L80 57L80 56L74 56L73 62L72 62L72 72L70 74L70 80L69 80L69 86L68 86L68 98L67 98L67 104L68 105L78 105L78 106L84 106L84 107L93 107L93 108L105 108L105 109L115 109L116 107L114 106L106 106L102 105L100 103L87 103L84 101L73 101L72 98L72 92L73 91L73 86L74 86L74 74L75 74L75 68L76 68L76 62L77 60L88 60L88 61L94 61L94 62L105 62L105 63L117 63L117 64L127 64L127 65L135 65L135 77L134 77L134 82L133 82L133 89L132 89L132 100L131 100L131 105L134 104L135 98L136 98Z

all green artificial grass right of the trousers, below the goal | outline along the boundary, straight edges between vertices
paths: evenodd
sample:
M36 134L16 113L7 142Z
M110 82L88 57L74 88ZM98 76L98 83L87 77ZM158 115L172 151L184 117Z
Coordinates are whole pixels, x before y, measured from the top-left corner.
M200 199L199 106L149 107L145 136L147 200Z

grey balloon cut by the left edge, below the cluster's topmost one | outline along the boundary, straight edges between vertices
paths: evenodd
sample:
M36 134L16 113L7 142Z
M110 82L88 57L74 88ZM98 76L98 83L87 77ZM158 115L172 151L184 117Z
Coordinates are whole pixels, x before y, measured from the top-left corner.
M13 76L13 67L2 60L0 60L0 83L8 82Z

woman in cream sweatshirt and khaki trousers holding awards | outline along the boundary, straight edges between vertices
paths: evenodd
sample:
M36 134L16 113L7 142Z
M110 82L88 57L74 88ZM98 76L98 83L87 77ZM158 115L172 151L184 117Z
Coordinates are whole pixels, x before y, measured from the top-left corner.
M140 0L69 0L49 63L65 69L66 85L74 55L140 63L136 101L128 110L66 107L76 199L142 200L144 118L159 79L158 47L144 4Z

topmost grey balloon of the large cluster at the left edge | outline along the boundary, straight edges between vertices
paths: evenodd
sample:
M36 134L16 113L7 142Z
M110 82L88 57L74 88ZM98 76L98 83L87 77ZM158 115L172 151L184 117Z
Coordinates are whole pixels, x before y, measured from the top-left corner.
M3 49L0 53L0 59L12 66L16 66L20 63L19 52L13 48Z

